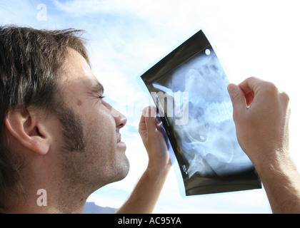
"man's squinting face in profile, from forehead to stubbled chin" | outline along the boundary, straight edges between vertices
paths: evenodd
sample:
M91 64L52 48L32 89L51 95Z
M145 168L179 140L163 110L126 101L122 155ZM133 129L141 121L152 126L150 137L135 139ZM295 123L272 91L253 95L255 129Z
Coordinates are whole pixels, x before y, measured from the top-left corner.
M121 141L119 133L119 129L126 124L126 117L101 98L103 87L91 73L85 59L73 49L69 49L61 93L69 107L67 109L71 110L73 119L78 122L74 128L68 127L70 133L79 129L77 134L81 136L84 145L84 148L78 146L77 151L68 150L68 147L61 150L60 160L65 180L90 186L91 191L94 191L126 177L129 161L125 155L126 145ZM64 130L66 135L68 129Z

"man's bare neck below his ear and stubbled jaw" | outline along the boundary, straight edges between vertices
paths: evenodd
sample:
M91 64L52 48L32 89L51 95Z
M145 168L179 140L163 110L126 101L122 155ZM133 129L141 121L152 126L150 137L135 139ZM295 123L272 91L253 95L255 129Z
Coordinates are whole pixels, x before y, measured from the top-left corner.
M48 156L48 157L47 157ZM8 213L83 213L86 199L98 186L90 186L60 167L51 153L27 157L22 168L21 194L11 195ZM50 162L49 162L50 161ZM98 187L99 188L99 187Z

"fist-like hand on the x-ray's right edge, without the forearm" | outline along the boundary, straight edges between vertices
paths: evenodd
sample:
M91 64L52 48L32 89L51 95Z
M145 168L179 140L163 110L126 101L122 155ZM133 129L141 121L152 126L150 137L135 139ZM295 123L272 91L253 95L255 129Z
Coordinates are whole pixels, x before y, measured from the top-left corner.
M228 90L239 144L254 165L288 153L289 96L259 78L248 78L239 86L230 84Z

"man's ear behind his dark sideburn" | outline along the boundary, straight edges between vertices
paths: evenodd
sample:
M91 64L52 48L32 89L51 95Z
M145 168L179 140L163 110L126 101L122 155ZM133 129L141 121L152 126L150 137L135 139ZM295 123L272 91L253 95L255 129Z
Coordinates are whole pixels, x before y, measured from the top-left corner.
M16 109L9 112L5 125L9 133L27 149L46 155L50 148L49 134L44 126L44 119L39 119L36 111Z

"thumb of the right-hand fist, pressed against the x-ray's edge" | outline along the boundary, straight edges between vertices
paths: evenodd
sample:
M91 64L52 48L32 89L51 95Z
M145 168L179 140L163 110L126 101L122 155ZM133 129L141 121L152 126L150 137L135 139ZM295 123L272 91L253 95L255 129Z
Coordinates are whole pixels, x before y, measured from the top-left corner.
M234 107L234 113L246 110L247 103L243 90L232 83L229 84L227 90L231 98L232 106Z

